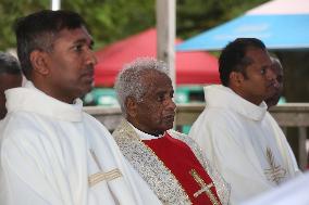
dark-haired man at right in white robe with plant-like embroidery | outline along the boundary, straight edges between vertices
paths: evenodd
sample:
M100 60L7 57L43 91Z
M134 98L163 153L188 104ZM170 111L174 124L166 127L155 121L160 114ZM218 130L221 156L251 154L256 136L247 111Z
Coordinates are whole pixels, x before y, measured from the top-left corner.
M205 88L206 107L189 137L231 184L239 204L295 177L299 169L264 99L279 86L263 42L239 38L219 59L222 85Z

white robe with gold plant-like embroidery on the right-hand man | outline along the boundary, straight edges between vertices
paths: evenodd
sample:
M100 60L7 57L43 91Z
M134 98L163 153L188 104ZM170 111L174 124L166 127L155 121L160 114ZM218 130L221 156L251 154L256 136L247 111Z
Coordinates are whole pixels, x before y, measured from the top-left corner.
M294 154L262 102L246 101L227 87L205 88L206 108L189 137L231 184L239 204L299 172Z

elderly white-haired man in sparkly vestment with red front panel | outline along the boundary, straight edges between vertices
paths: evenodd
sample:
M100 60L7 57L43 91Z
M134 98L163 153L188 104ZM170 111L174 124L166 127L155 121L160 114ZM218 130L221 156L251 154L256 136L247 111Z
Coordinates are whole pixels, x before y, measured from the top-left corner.
M198 145L171 130L176 105L166 65L137 59L119 74L115 90L125 119L113 137L161 202L228 204L228 185Z

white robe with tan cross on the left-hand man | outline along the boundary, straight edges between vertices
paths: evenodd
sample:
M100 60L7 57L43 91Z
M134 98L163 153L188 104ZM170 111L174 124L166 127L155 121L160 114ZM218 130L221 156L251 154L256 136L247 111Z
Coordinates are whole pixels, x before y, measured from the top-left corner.
M0 130L0 204L161 204L109 131L32 82L7 91Z

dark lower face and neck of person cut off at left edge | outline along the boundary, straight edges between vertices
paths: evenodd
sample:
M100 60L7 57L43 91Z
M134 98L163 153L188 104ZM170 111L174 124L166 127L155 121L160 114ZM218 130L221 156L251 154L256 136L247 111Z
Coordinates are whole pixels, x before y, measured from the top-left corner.
M22 74L0 74L0 119L7 115L4 91L22 86Z

